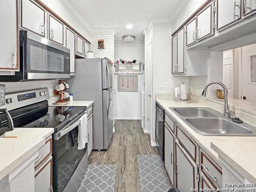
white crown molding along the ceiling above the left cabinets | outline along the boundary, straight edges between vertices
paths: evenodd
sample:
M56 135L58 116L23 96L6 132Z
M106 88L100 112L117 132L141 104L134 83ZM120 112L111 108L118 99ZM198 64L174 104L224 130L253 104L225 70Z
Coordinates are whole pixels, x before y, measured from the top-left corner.
M84 20L82 15L76 10L76 8L72 5L72 3L68 0L60 0L62 4L74 15L74 17L90 32L93 33L90 25Z

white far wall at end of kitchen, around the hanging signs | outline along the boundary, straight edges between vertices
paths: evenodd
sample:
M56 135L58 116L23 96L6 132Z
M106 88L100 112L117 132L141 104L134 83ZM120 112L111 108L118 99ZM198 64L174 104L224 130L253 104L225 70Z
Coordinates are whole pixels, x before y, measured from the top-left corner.
M144 62L144 42L114 43L114 61L120 58L132 61L134 59ZM141 119L141 94L144 90L145 73L138 75L138 92L118 92L118 75L114 75L114 89L116 89L117 119Z

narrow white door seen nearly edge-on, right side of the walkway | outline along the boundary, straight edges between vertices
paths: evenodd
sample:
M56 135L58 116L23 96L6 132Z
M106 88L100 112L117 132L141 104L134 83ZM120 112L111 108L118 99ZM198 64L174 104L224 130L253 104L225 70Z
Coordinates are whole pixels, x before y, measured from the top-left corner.
M148 44L148 130L151 130L151 97L152 97L152 39Z

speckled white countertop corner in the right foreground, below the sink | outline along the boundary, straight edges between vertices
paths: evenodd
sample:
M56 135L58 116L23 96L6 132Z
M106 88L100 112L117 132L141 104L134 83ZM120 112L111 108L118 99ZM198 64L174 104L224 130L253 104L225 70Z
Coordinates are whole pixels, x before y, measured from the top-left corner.
M219 156L251 183L256 183L256 141L212 142Z

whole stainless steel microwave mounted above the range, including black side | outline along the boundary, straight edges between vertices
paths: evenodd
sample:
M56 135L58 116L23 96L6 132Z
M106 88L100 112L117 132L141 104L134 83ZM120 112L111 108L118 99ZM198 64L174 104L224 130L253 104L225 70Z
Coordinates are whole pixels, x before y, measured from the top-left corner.
M62 78L70 78L70 50L32 32L20 31L20 71L3 81Z

